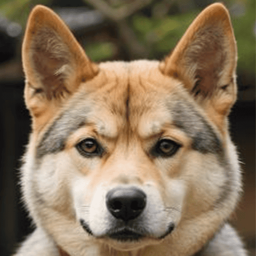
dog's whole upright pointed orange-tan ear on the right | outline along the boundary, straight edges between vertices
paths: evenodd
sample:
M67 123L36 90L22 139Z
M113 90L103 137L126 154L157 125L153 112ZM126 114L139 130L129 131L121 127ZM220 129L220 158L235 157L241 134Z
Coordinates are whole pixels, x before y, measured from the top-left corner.
M160 70L181 79L206 111L224 118L236 99L236 55L228 11L213 3L191 23Z

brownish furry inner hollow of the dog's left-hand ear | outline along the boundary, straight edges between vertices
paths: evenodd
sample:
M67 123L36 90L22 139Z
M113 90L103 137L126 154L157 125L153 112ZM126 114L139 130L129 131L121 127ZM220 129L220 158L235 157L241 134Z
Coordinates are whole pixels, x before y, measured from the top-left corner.
M47 27L39 29L33 36L30 54L42 83L39 91L43 91L47 99L70 93L68 76L75 72L73 56L56 32Z

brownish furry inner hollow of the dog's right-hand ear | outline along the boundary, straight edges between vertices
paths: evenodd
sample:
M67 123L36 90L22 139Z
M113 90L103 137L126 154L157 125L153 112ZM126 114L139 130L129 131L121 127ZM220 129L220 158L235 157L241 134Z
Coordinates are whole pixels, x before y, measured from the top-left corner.
M223 34L212 28L205 30L198 31L196 40L186 49L183 61L187 66L186 77L191 82L191 93L203 98L212 95L228 65L228 49L223 45Z

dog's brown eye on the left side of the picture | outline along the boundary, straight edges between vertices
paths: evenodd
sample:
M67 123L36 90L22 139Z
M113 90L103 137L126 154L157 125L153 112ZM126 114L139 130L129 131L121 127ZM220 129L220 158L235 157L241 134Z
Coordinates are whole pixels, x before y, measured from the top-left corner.
M86 157L99 156L103 151L94 138L85 138L75 147L82 156Z

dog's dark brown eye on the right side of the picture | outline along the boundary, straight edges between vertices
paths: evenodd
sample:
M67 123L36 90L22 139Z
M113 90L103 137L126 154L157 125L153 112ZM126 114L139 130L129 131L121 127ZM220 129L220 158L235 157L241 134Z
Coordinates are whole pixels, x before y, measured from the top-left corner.
M171 139L160 139L152 150L154 156L168 157L172 156L179 149L180 144Z

